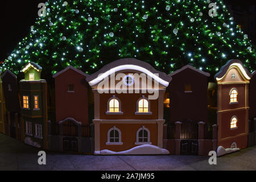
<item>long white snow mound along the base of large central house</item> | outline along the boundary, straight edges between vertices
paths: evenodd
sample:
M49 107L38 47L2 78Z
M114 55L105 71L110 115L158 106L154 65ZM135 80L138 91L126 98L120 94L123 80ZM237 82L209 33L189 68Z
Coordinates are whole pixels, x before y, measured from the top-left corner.
M143 144L131 148L130 150L114 152L110 150L102 150L99 152L94 152L94 154L101 155L168 155L170 152L164 148L159 148L158 146L153 146L151 144Z

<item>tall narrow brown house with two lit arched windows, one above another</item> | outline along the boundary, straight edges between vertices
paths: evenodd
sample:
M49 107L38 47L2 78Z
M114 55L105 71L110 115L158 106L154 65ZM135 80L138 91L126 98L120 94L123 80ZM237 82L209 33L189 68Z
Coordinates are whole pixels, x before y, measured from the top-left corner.
M247 147L251 74L240 60L230 60L214 78L218 84L219 156Z

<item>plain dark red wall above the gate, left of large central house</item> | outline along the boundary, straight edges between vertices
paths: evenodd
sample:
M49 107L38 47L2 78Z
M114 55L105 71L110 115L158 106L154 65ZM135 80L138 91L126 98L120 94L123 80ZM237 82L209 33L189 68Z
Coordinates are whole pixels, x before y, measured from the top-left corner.
M74 93L68 93L68 85L74 85ZM56 121L74 118L88 124L88 83L85 76L68 69L55 77Z

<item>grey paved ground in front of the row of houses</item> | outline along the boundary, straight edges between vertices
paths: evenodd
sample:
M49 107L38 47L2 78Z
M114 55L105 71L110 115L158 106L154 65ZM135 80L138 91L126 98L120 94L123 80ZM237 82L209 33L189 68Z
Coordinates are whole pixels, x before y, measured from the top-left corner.
M256 170L256 146L217 158L207 156L94 156L47 152L47 165L39 166L38 149L0 134L0 170Z

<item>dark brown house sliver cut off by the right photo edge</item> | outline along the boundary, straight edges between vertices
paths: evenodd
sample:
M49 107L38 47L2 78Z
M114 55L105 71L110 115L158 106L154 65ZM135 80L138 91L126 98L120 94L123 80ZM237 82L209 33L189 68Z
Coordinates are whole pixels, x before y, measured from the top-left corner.
M256 71L251 74L250 89L249 89L249 119L251 121L256 118Z

